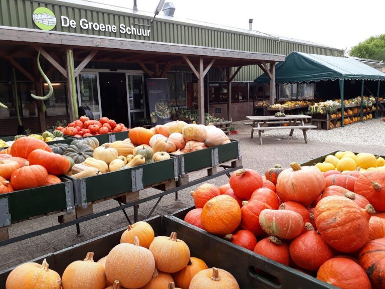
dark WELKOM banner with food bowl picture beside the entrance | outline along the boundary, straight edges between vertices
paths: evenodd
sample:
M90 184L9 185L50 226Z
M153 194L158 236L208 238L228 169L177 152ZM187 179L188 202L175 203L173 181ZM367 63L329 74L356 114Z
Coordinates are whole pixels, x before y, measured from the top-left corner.
M171 121L170 94L167 78L147 78L148 107L151 126Z

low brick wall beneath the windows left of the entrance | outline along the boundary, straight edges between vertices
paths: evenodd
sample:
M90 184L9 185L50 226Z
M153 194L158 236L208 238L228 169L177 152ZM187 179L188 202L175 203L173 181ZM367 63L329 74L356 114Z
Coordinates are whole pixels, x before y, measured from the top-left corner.
M46 116L47 125L53 126L58 120L70 121L69 115L50 115ZM22 117L22 123L24 129L31 129L31 133L40 133L46 130L40 128L39 117ZM0 136L12 136L16 135L18 130L18 119L17 118L3 118L0 119Z

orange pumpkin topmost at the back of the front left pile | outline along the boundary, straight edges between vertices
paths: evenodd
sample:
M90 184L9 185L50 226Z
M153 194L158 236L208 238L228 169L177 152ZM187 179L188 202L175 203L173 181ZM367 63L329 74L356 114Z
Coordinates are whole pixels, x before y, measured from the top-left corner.
M120 243L133 244L135 236L138 237L140 245L148 249L151 242L154 240L155 233L150 224L139 221L132 225L128 225L127 230L125 230L120 237Z

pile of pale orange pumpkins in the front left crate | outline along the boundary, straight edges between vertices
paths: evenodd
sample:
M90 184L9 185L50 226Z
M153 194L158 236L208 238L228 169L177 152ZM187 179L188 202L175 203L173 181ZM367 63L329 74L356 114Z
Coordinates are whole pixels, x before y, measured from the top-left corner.
M239 289L228 271L190 257L175 232L154 237L146 222L129 225L107 256L97 262L93 257L94 252L88 252L84 260L70 263L62 277L46 260L21 264L9 274L6 289Z

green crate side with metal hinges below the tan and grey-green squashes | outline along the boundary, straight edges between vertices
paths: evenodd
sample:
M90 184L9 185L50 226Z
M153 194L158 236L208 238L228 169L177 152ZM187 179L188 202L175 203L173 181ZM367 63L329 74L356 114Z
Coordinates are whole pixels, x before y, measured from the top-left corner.
M175 157L134 168L105 173L82 179L72 179L75 204L86 207L93 202L126 192L136 192L154 184L175 179L178 175Z

